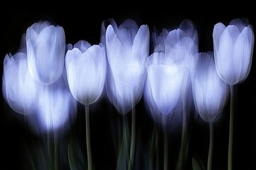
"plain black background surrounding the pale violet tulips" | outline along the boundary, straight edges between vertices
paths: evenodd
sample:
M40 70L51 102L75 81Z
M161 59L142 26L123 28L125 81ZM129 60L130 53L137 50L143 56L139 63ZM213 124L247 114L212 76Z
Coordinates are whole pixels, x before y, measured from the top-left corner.
M71 3L70 3L71 4ZM85 3L86 4L86 3ZM129 5L128 5L129 4ZM38 4L40 5L40 4ZM15 53L20 45L21 35L26 33L26 28L33 23L48 20L65 30L66 42L74 44L78 40L87 40L91 44L98 44L100 41L100 28L103 20L114 18L117 23L126 18L133 18L138 25L147 24L150 30L155 27L176 28L183 19L191 19L196 25L199 36L199 50L201 52L213 50L213 26L222 22L225 25L233 18L246 17L252 26L256 27L254 9L251 4L239 4L236 7L220 7L212 3L202 8L192 8L190 4L167 5L164 3L150 4L150 7L134 7L137 4L124 2L119 7L107 8L105 4L85 5L77 9L80 4L73 4L69 8L57 7L51 11L42 11L33 8L14 10L6 6L8 12L1 13L1 37L0 57L1 74L4 56L6 53ZM81 4L82 6L82 4ZM186 9L189 7L189 9ZM102 9L103 7L103 9ZM120 8L122 7L122 8ZM125 7L125 8L124 8ZM92 11L90 11L92 10ZM255 57L255 55L254 55ZM255 144L256 144L256 93L254 86L255 61L252 60L252 69L245 81L238 85L238 114L235 115L234 124L234 146L233 146L233 169L256 169ZM229 104L229 103L228 103ZM213 169L227 169L228 162L228 123L229 105L223 111L223 115L214 124L215 140L213 151ZM91 118L91 143L92 159L95 169L114 169L116 155L111 136L111 125L113 121L121 120L121 116L114 107L102 98L100 102L92 106ZM146 145L147 140L154 127L154 122L146 113L142 101L136 106L137 110L137 138L141 138L141 145ZM130 113L128 113L130 120ZM82 152L85 153L85 115L84 108L78 104L78 117L73 127L63 137L68 141L70 137L76 137L80 142ZM42 141L42 137L33 135L33 132L26 128L23 123L23 116L14 113L1 96L1 163L3 169L28 169L26 146L33 148L36 142ZM191 158L198 154L207 164L208 155L208 123L200 118L194 118L190 124L191 142L189 145L188 169L191 167ZM162 140L160 131L159 140ZM181 139L180 130L169 132L169 168L174 169L177 159L178 147ZM63 142L65 143L65 142ZM162 143L160 142L162 145ZM137 150L139 147L137 147ZM141 147L143 148L143 147ZM66 148L63 147L65 150ZM160 148L162 149L162 148ZM159 151L162 153L162 151ZM65 153L65 152L64 152ZM65 157L65 156L63 156ZM162 156L161 156L162 157ZM160 159L162 168L163 159ZM144 159L137 159L137 169L145 169ZM2 168L0 168L2 169ZM68 162L62 162L62 169L68 169Z

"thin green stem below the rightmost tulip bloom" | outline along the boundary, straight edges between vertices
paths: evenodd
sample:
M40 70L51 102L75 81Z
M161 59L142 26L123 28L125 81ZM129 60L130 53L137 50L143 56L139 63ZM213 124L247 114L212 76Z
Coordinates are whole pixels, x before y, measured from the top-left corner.
M234 114L235 106L237 100L237 86L230 85L230 132L228 140L228 170L232 170L232 157L233 157L233 124L234 124Z

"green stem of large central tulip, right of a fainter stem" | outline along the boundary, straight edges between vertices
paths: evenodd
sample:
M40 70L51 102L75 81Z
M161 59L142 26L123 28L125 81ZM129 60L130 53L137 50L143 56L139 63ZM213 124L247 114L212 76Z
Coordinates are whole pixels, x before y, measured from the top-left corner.
M136 111L135 106L132 107L132 138L131 138L131 147L130 147L130 157L129 157L129 166L128 169L134 169L134 151L135 151L135 125L136 125Z

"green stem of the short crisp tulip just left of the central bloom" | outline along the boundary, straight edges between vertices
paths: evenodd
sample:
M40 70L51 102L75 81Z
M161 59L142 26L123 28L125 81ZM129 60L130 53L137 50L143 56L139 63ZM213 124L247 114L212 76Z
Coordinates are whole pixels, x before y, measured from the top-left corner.
M92 152L90 147L90 115L89 105L85 105L85 130L86 130L86 147L87 147L87 169L92 170Z

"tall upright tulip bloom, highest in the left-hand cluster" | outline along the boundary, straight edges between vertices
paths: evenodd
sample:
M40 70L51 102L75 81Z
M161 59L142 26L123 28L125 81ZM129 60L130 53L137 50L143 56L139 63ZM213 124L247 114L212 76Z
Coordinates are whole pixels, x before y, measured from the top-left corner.
M28 70L38 82L51 84L63 72L65 33L48 22L34 23L26 30Z

